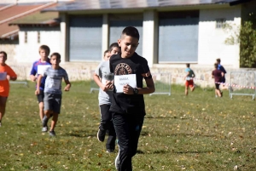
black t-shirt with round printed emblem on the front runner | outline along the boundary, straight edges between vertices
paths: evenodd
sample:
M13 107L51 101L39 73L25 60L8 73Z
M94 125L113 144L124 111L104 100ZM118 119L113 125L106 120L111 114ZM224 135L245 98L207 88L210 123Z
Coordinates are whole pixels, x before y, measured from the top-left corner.
M152 78L148 61L137 53L130 58L121 58L120 54L113 54L109 65L114 76L136 74L137 88L143 88L143 78ZM116 89L113 88L113 99L109 111L145 115L143 94L116 93Z

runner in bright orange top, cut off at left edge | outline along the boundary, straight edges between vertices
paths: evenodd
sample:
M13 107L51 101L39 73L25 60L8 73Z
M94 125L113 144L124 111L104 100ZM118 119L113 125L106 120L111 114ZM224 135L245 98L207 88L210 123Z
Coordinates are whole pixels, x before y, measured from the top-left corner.
M0 127L5 112L7 98L9 96L9 80L15 81L17 75L15 71L5 64L7 54L4 51L0 52Z

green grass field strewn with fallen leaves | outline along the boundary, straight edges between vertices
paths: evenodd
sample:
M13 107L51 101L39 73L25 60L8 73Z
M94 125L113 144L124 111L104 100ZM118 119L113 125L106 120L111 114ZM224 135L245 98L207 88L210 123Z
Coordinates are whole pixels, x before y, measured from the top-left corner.
M34 84L11 85L0 128L0 170L115 170L114 153L98 142L97 92L90 83L73 83L63 93L56 137L41 132ZM248 96L215 98L196 88L185 97L145 95L146 111L134 171L256 170L256 107Z

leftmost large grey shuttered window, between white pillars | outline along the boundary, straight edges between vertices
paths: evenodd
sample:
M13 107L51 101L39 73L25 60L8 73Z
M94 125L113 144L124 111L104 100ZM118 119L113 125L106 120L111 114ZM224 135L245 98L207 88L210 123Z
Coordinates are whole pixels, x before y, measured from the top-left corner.
M70 18L69 60L102 60L102 16Z

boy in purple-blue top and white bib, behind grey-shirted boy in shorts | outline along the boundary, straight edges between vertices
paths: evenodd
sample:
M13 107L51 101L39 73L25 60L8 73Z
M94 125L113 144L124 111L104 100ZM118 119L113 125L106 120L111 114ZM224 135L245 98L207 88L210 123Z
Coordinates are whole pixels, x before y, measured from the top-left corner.
M30 72L30 79L32 82L36 82L37 77L36 75L42 74L42 71L44 71L47 67L50 67L49 62L49 47L46 45L42 45L39 47L39 54L40 59L35 61L32 65L32 70ZM40 73L41 72L41 73ZM44 83L45 83L46 77L42 78L41 83L39 83L40 92L37 94L38 96L38 105L39 105L39 116L41 121L44 117ZM43 132L47 131L47 128L42 128Z

